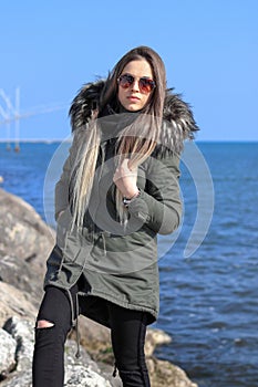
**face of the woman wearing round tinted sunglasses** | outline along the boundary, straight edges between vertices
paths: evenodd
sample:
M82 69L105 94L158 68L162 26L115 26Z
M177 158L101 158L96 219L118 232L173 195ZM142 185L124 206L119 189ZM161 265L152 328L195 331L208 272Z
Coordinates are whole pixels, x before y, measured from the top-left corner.
M144 59L131 61L124 66L120 79L125 74L128 75L131 84L118 82L118 101L126 111L137 112L148 103L153 92L142 87L140 81L141 79L153 80L152 67Z

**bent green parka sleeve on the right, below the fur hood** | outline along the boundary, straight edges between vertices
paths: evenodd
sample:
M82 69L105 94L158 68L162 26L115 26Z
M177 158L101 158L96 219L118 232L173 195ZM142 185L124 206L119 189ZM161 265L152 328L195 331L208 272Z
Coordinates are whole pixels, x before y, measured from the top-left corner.
M172 233L182 217L179 157L149 157L146 178L145 189L128 205L130 216L143 221L156 233Z

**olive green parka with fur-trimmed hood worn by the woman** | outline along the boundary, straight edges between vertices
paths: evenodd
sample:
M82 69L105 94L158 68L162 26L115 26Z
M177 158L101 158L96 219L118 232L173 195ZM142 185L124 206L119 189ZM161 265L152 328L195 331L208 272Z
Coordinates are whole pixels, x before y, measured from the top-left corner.
M197 126L188 105L167 92L161 144L138 167L141 195L128 205L127 223L121 224L113 182L115 144L128 114L112 112L100 118L102 139L89 209L83 228L71 229L70 189L78 151L76 129L89 129L87 119L103 85L102 81L85 85L70 111L75 135L55 186L56 244L47 262L44 286L51 284L69 292L80 280L83 314L105 326L110 326L106 300L147 312L152 323L157 318L159 304L157 233L169 234L179 226L179 153L184 139L192 138Z

